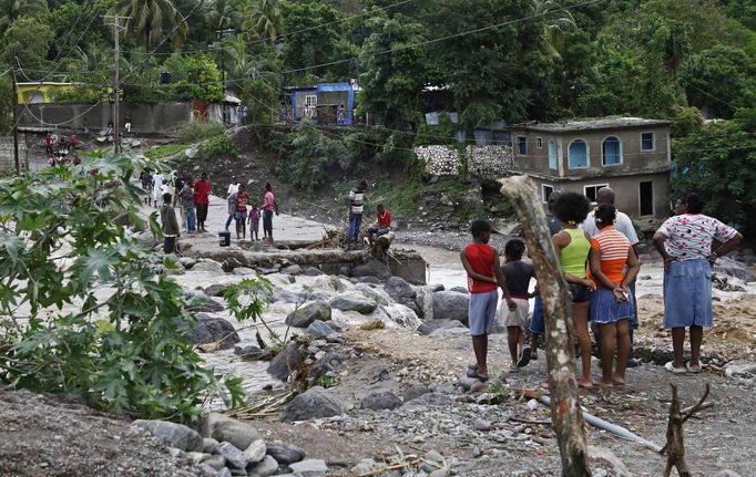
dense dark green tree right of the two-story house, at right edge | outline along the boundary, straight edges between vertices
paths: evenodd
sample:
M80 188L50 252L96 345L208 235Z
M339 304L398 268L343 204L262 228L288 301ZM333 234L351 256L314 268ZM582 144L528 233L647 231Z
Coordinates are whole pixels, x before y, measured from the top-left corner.
M695 190L706 200L704 212L753 230L756 197L756 137L746 124L713 123L677 139L673 157L674 194Z

